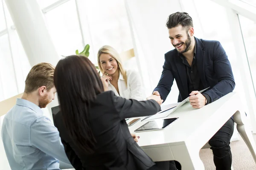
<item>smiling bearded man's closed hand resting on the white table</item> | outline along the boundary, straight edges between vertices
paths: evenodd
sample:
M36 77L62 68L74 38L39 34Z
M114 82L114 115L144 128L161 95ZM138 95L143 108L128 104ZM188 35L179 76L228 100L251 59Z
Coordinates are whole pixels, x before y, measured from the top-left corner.
M192 91L189 95L189 102L193 108L199 109L205 105L206 98L199 91Z

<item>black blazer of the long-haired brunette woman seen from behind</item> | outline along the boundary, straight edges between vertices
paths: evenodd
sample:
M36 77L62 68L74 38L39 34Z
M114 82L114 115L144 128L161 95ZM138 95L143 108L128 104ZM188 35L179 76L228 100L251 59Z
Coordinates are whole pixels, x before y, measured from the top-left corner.
M147 170L155 163L134 141L125 118L149 116L160 111L154 101L137 101L115 96L113 91L97 95L89 111L96 139L93 154L84 153L70 138L61 112L54 117L70 163L76 170ZM132 120L132 119L131 119Z

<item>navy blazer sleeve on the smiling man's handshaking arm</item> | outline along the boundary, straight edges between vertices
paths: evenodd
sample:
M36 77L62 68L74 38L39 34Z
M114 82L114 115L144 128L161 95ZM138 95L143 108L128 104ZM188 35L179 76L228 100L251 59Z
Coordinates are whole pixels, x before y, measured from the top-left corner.
M154 91L159 92L163 101L166 100L168 94L170 93L174 81L174 77L171 71L171 65L167 59L167 54L165 54L162 75L157 84L157 87L154 89Z

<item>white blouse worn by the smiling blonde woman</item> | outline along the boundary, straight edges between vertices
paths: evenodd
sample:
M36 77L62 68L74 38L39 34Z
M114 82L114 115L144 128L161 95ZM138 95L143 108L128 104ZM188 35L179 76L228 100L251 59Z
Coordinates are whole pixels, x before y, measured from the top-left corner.
M127 87L125 85L125 79L123 78L121 72L119 74L118 79L118 89L119 94L116 91L116 88L111 85L110 81L108 80L108 90L113 91L116 96L121 96L126 99L136 99L136 100L145 100L144 99L144 92L142 83L140 81L140 75L137 71L134 70L126 70L127 75Z

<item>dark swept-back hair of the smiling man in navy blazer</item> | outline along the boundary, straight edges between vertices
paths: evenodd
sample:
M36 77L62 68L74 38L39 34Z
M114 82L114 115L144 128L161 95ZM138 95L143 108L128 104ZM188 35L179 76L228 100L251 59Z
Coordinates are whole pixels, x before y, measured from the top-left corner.
M168 29L174 28L177 26L182 26L183 28L186 28L187 30L190 27L193 27L193 21L192 18L189 16L186 12L175 12L173 14L170 14L167 21L166 21L166 27Z

